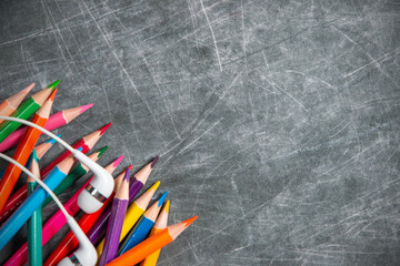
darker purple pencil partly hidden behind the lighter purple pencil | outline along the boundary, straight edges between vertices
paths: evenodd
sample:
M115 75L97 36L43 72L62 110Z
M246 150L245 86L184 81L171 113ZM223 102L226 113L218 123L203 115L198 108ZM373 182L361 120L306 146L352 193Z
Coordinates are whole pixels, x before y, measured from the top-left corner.
M146 184L158 158L159 158L159 155L157 155L150 163L148 163L143 168L141 168L138 173L136 173L132 176L131 184L129 186L129 204L131 204L133 202L133 200L138 195L139 191ZM106 211L102 213L100 218L96 222L96 224L88 232L87 236L89 237L89 241L93 245L97 245L98 242L104 237L106 227L107 227L107 223L110 217L110 214L111 214L111 206L106 208Z

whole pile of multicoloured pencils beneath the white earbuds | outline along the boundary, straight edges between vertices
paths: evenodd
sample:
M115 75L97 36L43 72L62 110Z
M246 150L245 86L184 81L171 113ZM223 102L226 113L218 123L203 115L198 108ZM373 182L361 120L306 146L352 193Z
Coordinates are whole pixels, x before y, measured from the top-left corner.
M59 81L56 81L23 101L34 86L34 83L30 84L0 103L0 115L30 120L39 126L53 131L93 106L87 104L50 115L58 84ZM72 146L82 153L89 153L110 125L111 123L81 137ZM17 147L12 157L30 168L36 176L43 178L56 195L60 195L68 187L73 187L78 180L84 178L89 168L76 161L69 151L63 152L44 167L40 167L42 166L40 160L54 144L53 140L49 140L37 145L40 135L41 132L34 127L0 120L0 152ZM96 162L107 149L104 146L92 152L89 157ZM106 166L106 171L112 174L122 158L123 156L120 156ZM156 156L131 177L132 165L128 166L114 178L112 195L93 214L80 215L81 211L78 206L78 196L91 178L64 204L70 215L80 216L78 224L90 242L97 246L100 266L126 266L139 263L141 266L156 265L160 249L173 242L197 218L193 216L167 226L170 205L169 201L164 203L167 192L150 205L160 185L159 181L138 196L158 160L159 156ZM33 178L28 178L26 186L14 190L21 172L11 163L6 170L0 170L0 250L24 224L28 226L27 243L16 250L4 265L24 265L28 260L31 266L57 265L63 257L72 254L79 242L72 232L68 232L43 263L42 246L58 234L67 221L62 212L58 211L42 224L41 211L52 200Z

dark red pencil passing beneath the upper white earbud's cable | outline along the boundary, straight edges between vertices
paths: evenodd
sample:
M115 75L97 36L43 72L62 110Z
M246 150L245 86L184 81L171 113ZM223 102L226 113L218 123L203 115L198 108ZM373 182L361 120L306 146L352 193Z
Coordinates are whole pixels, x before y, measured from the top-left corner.
M111 125L107 124L103 127L101 127L98 131L94 131L92 133L90 133L89 135L83 136L81 140L79 140L78 142L76 142L72 147L73 149L82 149L82 153L88 153L89 150L91 150L94 144L99 141L99 139L101 137L101 135L107 131L107 129ZM52 170L57 163L61 162L62 160L64 160L69 154L71 154L70 152L64 152L62 153L58 158L56 158L53 162L51 162L47 167L46 171L42 170L40 172L40 175L42 177L46 177L46 175L49 173L48 171ZM16 193L13 193L10 198L8 200L8 202L6 203L6 205L9 205L9 202L13 202L14 205L19 206L23 200L27 198L27 187L22 186L20 187Z

